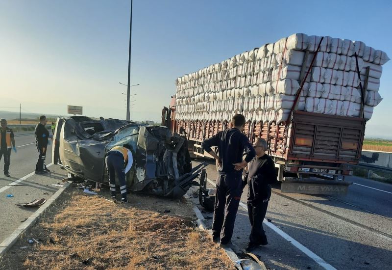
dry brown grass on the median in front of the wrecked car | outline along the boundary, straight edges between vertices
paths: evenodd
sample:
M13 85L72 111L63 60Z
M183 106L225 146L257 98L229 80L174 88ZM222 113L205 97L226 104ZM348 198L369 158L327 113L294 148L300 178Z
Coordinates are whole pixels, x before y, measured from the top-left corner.
M118 205L76 189L66 196L57 207L66 206L30 229L0 269L233 269L211 236L194 228L185 200L130 194L130 204ZM20 249L29 237L43 243Z

